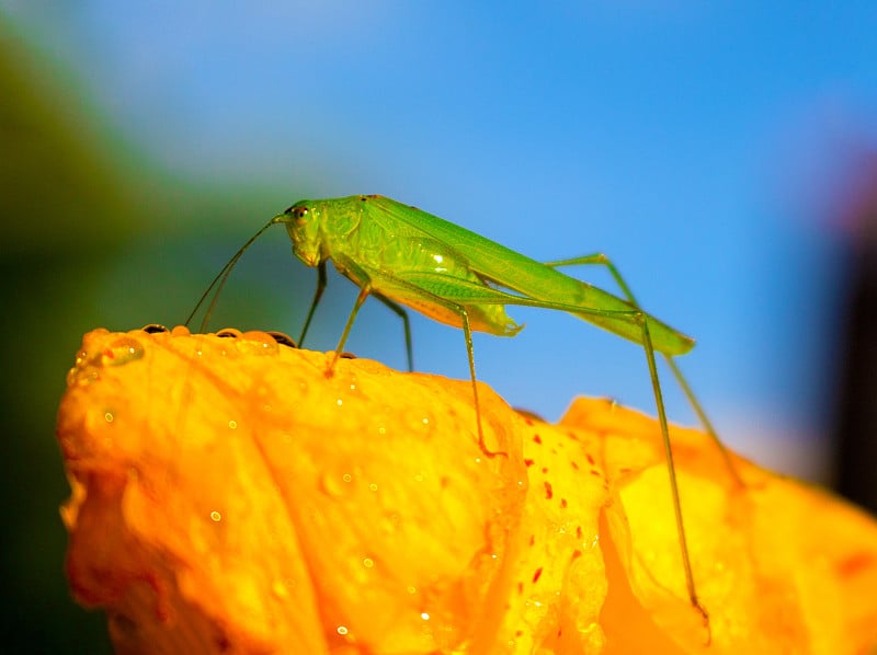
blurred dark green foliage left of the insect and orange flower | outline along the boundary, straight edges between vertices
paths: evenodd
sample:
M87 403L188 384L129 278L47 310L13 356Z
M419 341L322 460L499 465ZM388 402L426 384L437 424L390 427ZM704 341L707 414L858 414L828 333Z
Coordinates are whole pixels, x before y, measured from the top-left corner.
M0 380L0 650L104 653L104 616L77 607L64 576L67 540L58 507L69 486L53 435L65 374L82 334L94 328L182 322L210 275L248 235L241 217L252 218L254 229L288 204L291 189L198 184L162 173L89 106L88 90L35 54L2 16L0 99L0 342L7 366ZM221 242L223 234L230 240ZM255 265L303 275L288 243L276 240L272 248ZM272 295L261 273L248 290L241 288L244 272L243 284L229 285L224 296L225 315L236 317L236 326L276 326L272 307L293 304L288 286L276 285L283 288ZM255 285L260 294L252 294ZM253 307L254 297L264 300Z

